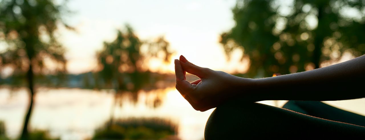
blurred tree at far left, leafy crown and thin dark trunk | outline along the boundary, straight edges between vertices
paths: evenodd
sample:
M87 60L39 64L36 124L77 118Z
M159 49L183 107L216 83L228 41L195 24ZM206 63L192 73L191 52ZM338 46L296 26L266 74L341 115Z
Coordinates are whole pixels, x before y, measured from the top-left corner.
M64 4L62 4L64 5ZM47 71L62 73L66 60L64 48L57 42L54 31L61 22L65 7L51 0L2 0L0 2L0 39L7 50L0 52L0 67L11 67L13 75L24 74L30 99L20 139L28 139L28 123L34 104L34 75ZM66 11L65 11L66 12ZM54 67L45 66L52 60Z

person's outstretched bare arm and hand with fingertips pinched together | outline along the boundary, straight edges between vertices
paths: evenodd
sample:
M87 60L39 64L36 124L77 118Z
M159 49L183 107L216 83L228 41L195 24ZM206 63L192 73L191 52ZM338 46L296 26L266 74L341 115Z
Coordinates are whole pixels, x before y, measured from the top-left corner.
M250 79L196 66L181 55L180 60L175 59L176 89L195 110L200 111L215 108L231 98L250 102L349 100L364 98L363 92L358 90L364 86L364 66L365 55L362 55L315 70ZM186 72L200 79L188 82ZM273 92L273 89L280 89L280 92Z

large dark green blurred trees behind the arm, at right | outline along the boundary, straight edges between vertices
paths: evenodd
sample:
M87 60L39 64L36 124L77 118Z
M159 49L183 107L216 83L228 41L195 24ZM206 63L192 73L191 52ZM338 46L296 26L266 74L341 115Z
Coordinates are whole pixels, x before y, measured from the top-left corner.
M269 77L319 68L343 52L365 52L365 1L239 0L236 26L221 35L229 57L240 48L250 59L249 77ZM348 12L349 10L352 11ZM355 16L351 16L355 14Z

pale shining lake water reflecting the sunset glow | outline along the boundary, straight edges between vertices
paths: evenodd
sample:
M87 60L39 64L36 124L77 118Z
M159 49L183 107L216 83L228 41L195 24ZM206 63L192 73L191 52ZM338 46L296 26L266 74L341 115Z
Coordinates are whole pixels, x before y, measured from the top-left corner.
M90 139L95 130L110 119L114 90L88 89L48 89L40 88L35 100L34 112L31 118L31 128L47 129L51 136L63 140ZM203 139L204 126L213 109L206 112L194 110L181 97L174 87L141 90L137 101L130 100L131 95L120 94L118 105L115 106L114 118L157 117L171 120L177 124L177 136L183 140ZM155 107L156 98L160 105ZM364 99L349 101L326 101L330 105L341 109L365 114L365 110L358 106ZM261 103L275 105L273 101ZM5 123L9 137L19 136L22 128L23 116L28 104L27 90L19 89L10 94L7 88L0 89L0 120ZM282 106L285 101L278 101ZM346 106L347 105L347 106Z

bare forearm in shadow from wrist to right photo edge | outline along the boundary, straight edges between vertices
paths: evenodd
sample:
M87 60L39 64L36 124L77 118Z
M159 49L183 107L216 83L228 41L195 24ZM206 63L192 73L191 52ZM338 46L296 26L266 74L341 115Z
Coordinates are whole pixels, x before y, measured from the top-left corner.
M300 73L253 79L257 101L333 101L365 97L365 55ZM357 92L360 91L360 92Z

